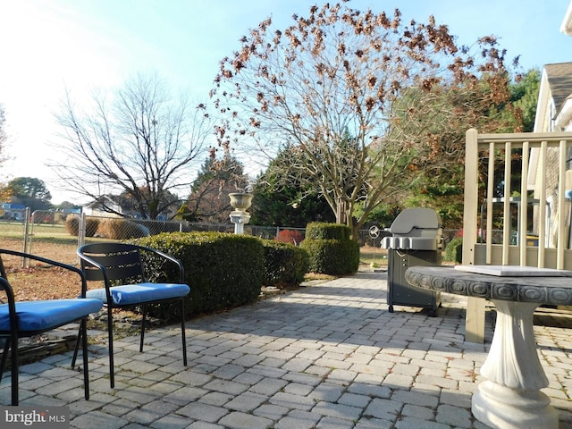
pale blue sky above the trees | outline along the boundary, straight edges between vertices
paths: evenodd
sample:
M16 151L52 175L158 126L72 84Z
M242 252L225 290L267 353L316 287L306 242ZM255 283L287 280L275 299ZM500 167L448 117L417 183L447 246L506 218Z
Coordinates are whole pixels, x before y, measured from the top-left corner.
M335 2L331 2L335 3ZM218 63L240 36L272 16L278 28L309 0L0 0L0 104L11 135L0 181L38 177L53 202L72 197L51 186L45 166L56 142L54 112L72 97L157 72L172 88L206 99ZM524 70L572 61L572 38L559 32L569 0L352 0L349 6L427 21L433 14L462 44L493 34Z

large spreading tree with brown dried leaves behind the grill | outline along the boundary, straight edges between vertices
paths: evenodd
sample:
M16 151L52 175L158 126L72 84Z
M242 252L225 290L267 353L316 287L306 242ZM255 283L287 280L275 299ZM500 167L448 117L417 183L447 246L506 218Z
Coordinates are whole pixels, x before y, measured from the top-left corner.
M293 21L261 22L221 62L218 144L250 159L283 150L282 184L311 185L353 231L422 172L462 164L468 128L498 126L509 74L495 38L456 46L433 17L341 4Z

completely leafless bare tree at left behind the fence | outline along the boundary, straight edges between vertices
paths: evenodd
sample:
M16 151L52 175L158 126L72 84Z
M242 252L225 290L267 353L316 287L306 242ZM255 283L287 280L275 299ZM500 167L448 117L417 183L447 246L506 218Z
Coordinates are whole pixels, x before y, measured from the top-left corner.
M65 188L99 201L122 194L149 219L180 205L177 189L189 188L212 134L204 109L173 100L162 80L143 75L92 101L80 111L67 94L56 114L69 142L53 165Z

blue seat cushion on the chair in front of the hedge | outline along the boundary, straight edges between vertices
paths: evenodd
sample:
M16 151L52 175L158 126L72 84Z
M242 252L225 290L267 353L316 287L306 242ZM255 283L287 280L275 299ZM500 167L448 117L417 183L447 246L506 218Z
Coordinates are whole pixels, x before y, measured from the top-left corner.
M110 288L114 306L131 306L161 299L181 298L189 294L190 288L179 283L137 283ZM100 299L107 304L105 288L88 290L88 298Z

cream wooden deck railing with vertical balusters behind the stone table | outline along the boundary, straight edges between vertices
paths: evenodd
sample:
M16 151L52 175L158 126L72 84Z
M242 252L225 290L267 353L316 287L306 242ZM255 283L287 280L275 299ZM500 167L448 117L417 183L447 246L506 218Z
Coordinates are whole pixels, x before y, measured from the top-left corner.
M572 132L478 134L467 130L463 265L572 270ZM522 168L513 161L522 156ZM504 170L504 187L495 172ZM519 186L511 177L521 175ZM480 186L479 186L480 185ZM502 230L501 242L492 231ZM466 340L484 341L484 299L467 300Z

